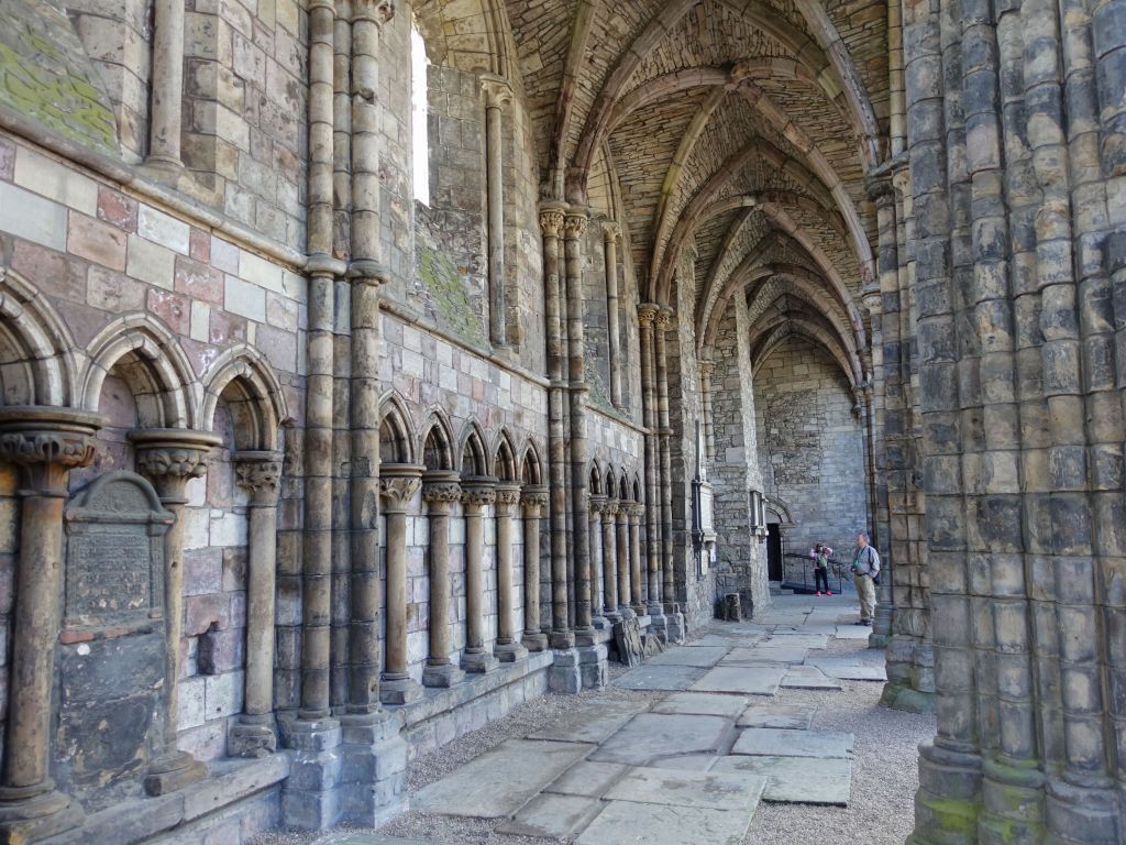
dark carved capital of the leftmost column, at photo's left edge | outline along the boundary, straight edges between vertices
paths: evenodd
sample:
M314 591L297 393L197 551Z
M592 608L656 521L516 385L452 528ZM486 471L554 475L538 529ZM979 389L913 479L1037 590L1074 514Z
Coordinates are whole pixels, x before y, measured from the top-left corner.
M93 461L104 421L66 408L0 409L0 460L19 465L28 491L65 495L66 473Z

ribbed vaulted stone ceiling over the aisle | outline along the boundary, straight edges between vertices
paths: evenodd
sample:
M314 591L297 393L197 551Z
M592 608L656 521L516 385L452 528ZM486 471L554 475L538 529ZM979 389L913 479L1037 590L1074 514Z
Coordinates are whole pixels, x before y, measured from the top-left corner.
M676 285L691 285L701 349L745 296L761 332L753 347L777 341L780 319L863 382L857 301L876 234L865 175L887 154L887 6L507 0L506 10L510 30L490 37L512 51L498 70L527 98L542 198L617 219L644 299L676 304ZM686 255L695 278L677 278Z

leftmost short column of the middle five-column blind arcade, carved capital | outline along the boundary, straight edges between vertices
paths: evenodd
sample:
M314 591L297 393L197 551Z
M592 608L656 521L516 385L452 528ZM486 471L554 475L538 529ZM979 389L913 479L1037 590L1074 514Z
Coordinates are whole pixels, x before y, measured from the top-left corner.
M379 466L387 560L387 633L379 685L384 704L406 704L422 695L422 687L408 671L406 657L406 512L422 487L421 475L422 468L414 464Z

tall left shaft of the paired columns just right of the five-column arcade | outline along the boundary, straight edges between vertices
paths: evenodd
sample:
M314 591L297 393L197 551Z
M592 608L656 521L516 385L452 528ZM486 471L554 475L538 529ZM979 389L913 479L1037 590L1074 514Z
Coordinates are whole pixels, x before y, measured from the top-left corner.
M560 231L563 210L539 212L544 233L544 313L547 323L547 463L548 516L552 537L552 648L569 649L574 634L568 624L566 441L563 433L566 381L563 376L562 292L560 286Z

